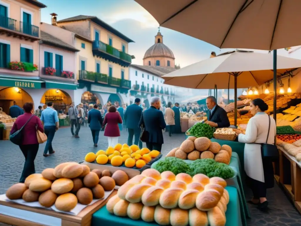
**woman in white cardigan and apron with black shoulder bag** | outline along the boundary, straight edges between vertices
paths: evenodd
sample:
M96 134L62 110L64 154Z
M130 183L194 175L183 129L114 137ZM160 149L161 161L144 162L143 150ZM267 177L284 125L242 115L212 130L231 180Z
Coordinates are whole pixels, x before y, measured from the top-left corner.
M257 205L258 209L262 211L265 211L268 207L266 189L274 187L272 161L262 159L261 155L260 144L274 144L276 136L275 120L265 113L266 110L268 110L268 105L262 99L254 99L250 104L250 112L253 117L248 122L246 134L238 134L238 141L246 143L244 168L247 174L248 186L253 192L253 199L249 203ZM268 117L271 119L270 130L268 130Z

